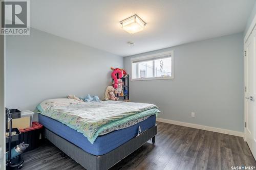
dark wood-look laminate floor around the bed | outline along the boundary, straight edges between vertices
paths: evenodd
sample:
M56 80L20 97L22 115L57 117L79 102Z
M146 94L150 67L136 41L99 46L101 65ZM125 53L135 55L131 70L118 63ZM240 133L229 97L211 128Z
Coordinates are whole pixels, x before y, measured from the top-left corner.
M145 143L111 169L231 169L256 166L242 137L165 123L158 124L156 143ZM48 143L24 154L23 169L83 169Z

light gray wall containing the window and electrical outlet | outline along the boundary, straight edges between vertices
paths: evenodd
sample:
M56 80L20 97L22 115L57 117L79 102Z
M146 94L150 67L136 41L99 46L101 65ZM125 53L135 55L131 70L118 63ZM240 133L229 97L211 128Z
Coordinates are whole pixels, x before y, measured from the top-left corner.
M131 81L132 102L156 104L160 118L243 131L243 34L174 46L173 80ZM196 112L196 117L190 117Z

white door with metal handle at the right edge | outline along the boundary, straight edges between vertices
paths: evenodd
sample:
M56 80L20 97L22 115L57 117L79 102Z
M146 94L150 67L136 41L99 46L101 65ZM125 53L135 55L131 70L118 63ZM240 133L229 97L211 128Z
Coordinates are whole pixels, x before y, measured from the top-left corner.
M245 42L245 139L256 158L256 30Z

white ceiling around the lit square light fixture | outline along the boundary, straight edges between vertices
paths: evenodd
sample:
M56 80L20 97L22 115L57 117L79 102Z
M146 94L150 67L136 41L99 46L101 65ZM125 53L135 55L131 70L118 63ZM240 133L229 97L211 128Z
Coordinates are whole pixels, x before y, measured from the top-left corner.
M242 32L255 0L33 0L31 27L120 56ZM120 20L138 14L145 30ZM135 46L127 45L128 41Z

